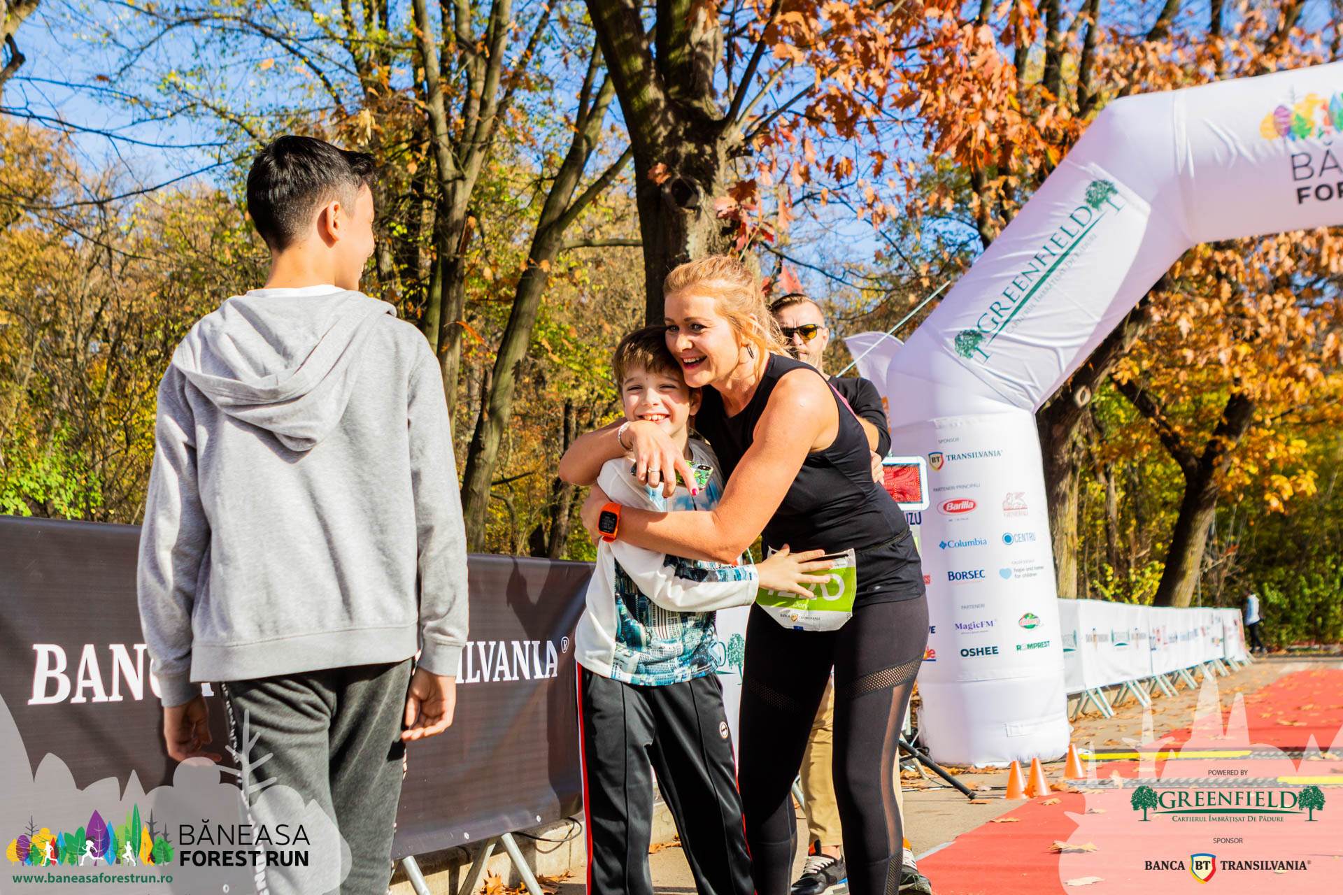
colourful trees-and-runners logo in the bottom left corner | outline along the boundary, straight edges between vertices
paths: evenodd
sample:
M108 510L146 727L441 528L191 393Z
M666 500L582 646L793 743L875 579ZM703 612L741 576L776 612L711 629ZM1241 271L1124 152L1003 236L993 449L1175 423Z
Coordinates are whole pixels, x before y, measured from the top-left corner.
M51 867L68 864L97 867L120 864L122 867L153 867L172 864L173 847L167 836L158 835L153 814L148 823L140 821L140 806L136 805L126 823L109 825L98 812L89 817L89 824L78 829L52 833L46 827L39 828L31 819L28 829L9 840L5 857L11 864L30 867ZM172 880L172 878L167 878ZM148 878L146 882L157 882Z

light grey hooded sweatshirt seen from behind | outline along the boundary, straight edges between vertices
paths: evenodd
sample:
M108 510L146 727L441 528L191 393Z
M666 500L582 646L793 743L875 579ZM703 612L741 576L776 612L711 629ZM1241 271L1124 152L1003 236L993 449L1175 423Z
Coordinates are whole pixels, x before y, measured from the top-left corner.
M466 537L424 337L334 286L200 319L158 386L140 619L165 706L192 682L400 662L455 675Z

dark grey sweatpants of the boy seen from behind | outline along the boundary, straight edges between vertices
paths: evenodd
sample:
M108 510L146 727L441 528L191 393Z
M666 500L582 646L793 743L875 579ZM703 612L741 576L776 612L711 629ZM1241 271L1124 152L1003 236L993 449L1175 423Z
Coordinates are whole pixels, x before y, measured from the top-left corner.
M316 801L349 844L340 895L384 895L392 878L410 676L407 659L223 684L234 747L246 713L252 758L273 753L258 776Z

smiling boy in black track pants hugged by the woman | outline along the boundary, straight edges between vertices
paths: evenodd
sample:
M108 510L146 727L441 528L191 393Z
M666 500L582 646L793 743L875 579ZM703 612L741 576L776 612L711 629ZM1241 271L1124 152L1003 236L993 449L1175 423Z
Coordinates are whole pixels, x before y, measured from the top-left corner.
M717 459L689 439L700 405L667 350L661 326L626 335L612 358L624 408L618 437L658 427L681 447L697 480L670 498L607 462L598 482L610 496L608 529L620 506L710 510L723 491ZM815 551L819 556L819 550ZM653 895L649 839L653 776L676 819L700 895L752 895L723 691L710 652L714 611L748 605L757 586L806 593L813 554L780 550L766 562L723 565L607 539L598 546L587 609L576 632L583 788L588 823L588 891ZM807 594L810 596L810 594Z

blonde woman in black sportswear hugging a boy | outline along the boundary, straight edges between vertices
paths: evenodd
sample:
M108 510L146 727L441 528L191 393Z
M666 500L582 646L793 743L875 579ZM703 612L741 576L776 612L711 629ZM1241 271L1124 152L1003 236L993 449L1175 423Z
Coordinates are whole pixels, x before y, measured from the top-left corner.
M795 840L790 786L830 671L835 676L834 778L849 890L894 892L902 831L894 768L905 702L928 636L919 554L904 513L873 482L858 420L814 368L783 356L756 278L712 256L667 275L666 339L686 385L702 388L696 429L727 478L708 513L626 507L612 522L600 488L583 506L588 530L615 527L641 547L732 562L757 535L767 549L822 549L855 566L853 616L803 631L751 609L741 695L739 784L759 895L787 895ZM670 494L685 459L655 425L591 432L560 475L591 484L602 464L633 454L637 475Z

